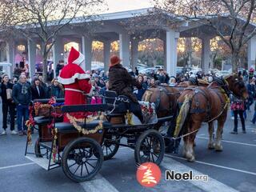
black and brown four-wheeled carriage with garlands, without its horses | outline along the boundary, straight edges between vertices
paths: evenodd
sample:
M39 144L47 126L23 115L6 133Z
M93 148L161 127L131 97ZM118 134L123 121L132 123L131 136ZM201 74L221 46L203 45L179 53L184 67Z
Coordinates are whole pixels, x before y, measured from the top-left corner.
M49 99L34 102L38 112L41 106L49 106L44 116L31 111L32 126L38 129L38 139L34 144L34 153L29 152L30 130L26 142L26 158L36 162L46 170L62 166L64 174L74 182L84 182L93 178L101 169L103 160L114 157L119 146L134 149L135 162L154 162L160 164L165 153L162 134L154 129L158 122L168 122L172 116L148 119L148 123L133 125L130 123L130 112L133 112L125 96L117 96L113 91L106 93L106 104L62 106L57 100L49 104ZM45 104L48 103L48 104ZM39 107L40 108L40 107ZM127 113L127 111L129 111ZM90 118L77 119L72 113L90 112ZM150 112L152 113L152 112ZM62 122L63 115L70 122ZM154 119L155 120L155 119ZM150 122L151 121L151 122ZM122 138L126 138L124 144Z

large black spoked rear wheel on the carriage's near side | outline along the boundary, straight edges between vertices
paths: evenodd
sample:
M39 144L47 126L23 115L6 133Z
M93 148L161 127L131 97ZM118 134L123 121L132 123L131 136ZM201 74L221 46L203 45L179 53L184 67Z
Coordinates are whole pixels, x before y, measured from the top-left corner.
M62 170L74 182L86 182L94 178L102 162L102 146L92 138L77 138L62 153Z

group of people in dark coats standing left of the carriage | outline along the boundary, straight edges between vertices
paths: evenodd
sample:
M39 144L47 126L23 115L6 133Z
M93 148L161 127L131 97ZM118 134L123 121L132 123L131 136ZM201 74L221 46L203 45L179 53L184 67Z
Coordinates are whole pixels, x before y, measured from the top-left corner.
M30 102L41 98L63 98L64 88L54 78L50 85L42 81L42 75L35 76L33 81L27 80L26 74L22 73L18 81L10 79L7 74L2 75L0 84L2 98L2 133L6 134L7 122L10 122L11 134L26 134L25 122L29 118ZM9 115L8 115L9 114ZM14 130L15 117L17 117L18 133Z

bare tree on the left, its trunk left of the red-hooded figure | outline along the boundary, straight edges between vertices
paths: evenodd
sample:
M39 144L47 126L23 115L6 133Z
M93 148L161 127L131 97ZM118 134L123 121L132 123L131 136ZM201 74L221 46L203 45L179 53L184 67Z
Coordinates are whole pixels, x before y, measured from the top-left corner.
M43 78L47 77L47 57L54 46L60 30L84 22L86 17L98 11L103 0L14 0L15 9L20 10L18 30L26 38L41 42ZM72 27L70 27L72 28ZM65 28L66 29L66 28Z

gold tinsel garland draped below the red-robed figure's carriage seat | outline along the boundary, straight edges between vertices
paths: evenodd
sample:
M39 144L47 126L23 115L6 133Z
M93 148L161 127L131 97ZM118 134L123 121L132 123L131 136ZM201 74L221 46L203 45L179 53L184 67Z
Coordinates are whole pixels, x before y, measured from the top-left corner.
M99 113L96 116L91 116L90 118L74 118L70 114L66 114L66 117L70 120L70 123L73 124L74 128L76 128L78 132L82 134L96 134L98 130L103 129L103 120L105 119L105 115L103 113ZM78 125L78 122L84 123L86 121L86 123L90 123L98 118L98 126L96 126L93 130L86 130L85 128L82 128L82 126Z

